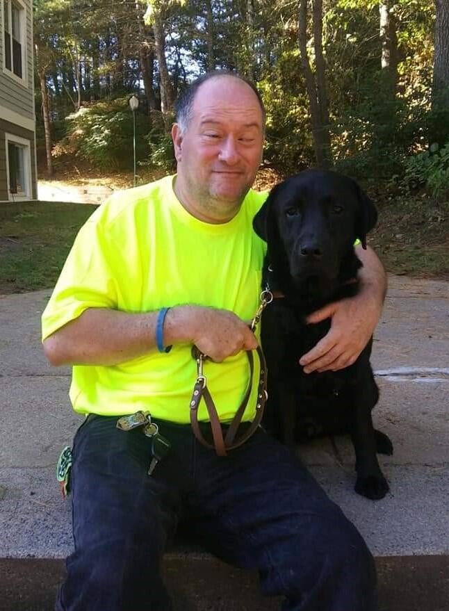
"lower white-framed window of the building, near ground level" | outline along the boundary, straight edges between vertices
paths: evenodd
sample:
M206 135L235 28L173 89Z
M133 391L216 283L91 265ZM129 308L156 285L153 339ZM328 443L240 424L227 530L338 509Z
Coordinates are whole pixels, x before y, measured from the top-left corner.
M31 197L31 154L28 140L7 133L6 161L9 199L28 199Z

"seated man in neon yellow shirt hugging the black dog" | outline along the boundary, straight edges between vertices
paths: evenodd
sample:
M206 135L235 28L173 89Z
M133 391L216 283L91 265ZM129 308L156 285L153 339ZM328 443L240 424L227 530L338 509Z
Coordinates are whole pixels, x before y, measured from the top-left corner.
M211 359L205 374L222 423L248 383L243 351L258 345L247 321L264 254L252 218L265 195L250 187L264 111L252 85L224 72L191 85L177 111L176 177L97 209L42 317L45 354L74 365L72 404L90 414L74 439L75 551L56 609L169 610L161 560L188 521L213 553L258 569L263 592L284 595L285 610L373 611L375 569L363 539L287 448L259 428L218 457L193 436L192 345ZM371 250L358 254L363 290L313 316L332 316L332 329L304 355L309 371L354 361L377 323L384 273ZM255 404L256 388L244 421ZM138 410L171 443L151 475L152 439L117 428ZM199 420L207 419L202 405Z

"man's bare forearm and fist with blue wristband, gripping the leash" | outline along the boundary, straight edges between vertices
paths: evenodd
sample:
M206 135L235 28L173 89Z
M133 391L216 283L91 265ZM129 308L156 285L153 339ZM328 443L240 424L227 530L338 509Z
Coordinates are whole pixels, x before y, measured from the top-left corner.
M156 350L158 312L85 310L79 318L44 340L52 365L117 365ZM240 350L254 350L254 334L236 314L195 305L171 308L165 316L163 343L192 343L215 362Z

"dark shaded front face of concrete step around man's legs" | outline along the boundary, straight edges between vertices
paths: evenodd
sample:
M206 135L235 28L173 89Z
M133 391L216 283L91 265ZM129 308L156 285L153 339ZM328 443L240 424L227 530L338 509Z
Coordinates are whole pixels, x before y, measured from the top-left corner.
M379 611L449 610L448 555L377 557L376 564ZM0 559L0 611L53 610L63 575L62 560ZM275 611L281 603L260 594L255 573L201 555L168 555L165 581L174 611Z

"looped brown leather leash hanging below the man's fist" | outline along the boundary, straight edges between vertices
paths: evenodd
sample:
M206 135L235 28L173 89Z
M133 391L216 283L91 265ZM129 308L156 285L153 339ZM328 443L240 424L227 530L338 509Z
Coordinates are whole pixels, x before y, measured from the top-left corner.
M194 350L195 350L195 346L194 346ZM266 367L265 357L263 356L263 352L260 346L257 348L256 352L259 355L260 368L261 368L260 377L259 377L259 386L257 389L256 416L254 417L254 420L250 424L250 427L248 427L248 429L245 431L245 433L240 438L235 439L237 431L238 431L238 427L240 426L240 423L243 418L243 414L245 413L245 409L247 407L248 400L250 399L250 395L251 395L252 378L254 374L253 352L251 350L248 350L246 352L248 361L250 363L250 382L248 382L248 386L245 391L245 396L243 397L243 400L240 403L240 407L238 407L236 415L234 416L234 419L232 420L231 425L229 425L229 429L227 430L226 437L223 437L223 431L222 431L222 427L220 424L220 419L218 418L217 409L212 400L211 393L209 392L209 389L206 386L206 378L204 376L198 376L197 382L195 383L195 386L193 387L193 395L192 395L192 399L190 400L190 423L192 425L193 433L195 434L195 437L198 439L198 441L202 443L203 446L206 446L206 448L209 448L209 449L215 449L215 452L218 454L218 456L226 456L228 450L234 450L234 448L238 448L238 446L241 446L243 443L245 443L247 439L250 439L252 434L254 434L254 432L256 431L256 428L261 423L261 419L263 416L263 409L265 408L266 400L268 397L267 391L266 391L267 367ZM195 357L195 352L193 352L193 355ZM206 403L207 412L209 414L209 420L211 423L211 430L212 430L212 437L213 437L213 444L209 443L208 441L206 441L206 439L204 439L204 436L199 428L198 407L199 407L199 402L202 400L202 398L204 398L204 402Z

